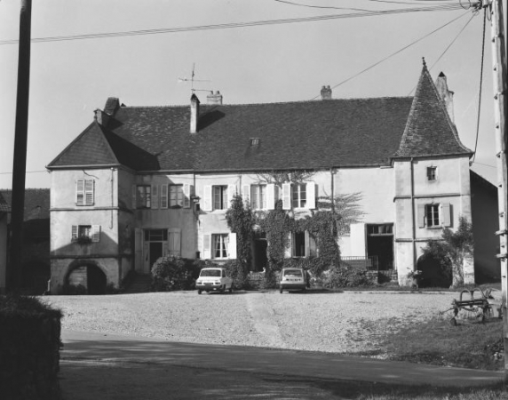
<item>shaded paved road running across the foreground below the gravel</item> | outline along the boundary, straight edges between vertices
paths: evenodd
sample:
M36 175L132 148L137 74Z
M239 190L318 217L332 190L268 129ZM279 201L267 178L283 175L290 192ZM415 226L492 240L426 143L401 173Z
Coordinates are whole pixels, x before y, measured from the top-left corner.
M474 387L501 372L63 331L64 399L353 398L361 382ZM349 383L348 383L349 382ZM360 383L357 383L360 382ZM333 383L333 384L332 384ZM338 390L337 385L343 387ZM347 388L345 388L347 387Z

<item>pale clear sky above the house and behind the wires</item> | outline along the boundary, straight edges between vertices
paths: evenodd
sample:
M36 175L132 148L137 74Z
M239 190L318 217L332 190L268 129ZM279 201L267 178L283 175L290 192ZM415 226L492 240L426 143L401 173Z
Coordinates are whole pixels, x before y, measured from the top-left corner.
M191 83L185 79L193 66L202 101L218 90L225 104L249 104L319 99L324 84L333 88L334 99L413 95L425 57L434 80L441 71L447 76L460 139L474 149L483 12L458 5L458 0L33 1L26 187L50 187L45 165L83 132L108 97L127 106L189 104ZM429 7L434 11L407 12ZM268 20L284 23L245 24ZM1 0L0 188L12 188L19 23L20 0ZM118 32L134 34L111 35ZM83 38L93 34L109 35ZM36 40L49 37L58 40ZM496 182L488 21L483 65L472 169Z

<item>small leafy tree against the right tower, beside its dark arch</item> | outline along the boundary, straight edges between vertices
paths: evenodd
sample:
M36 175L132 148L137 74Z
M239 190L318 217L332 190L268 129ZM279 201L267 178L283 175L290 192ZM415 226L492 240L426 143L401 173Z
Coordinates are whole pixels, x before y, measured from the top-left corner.
M464 260L472 258L473 249L472 223L460 217L456 232L444 228L441 239L424 248L424 256L439 260L443 273L451 275L452 286L457 287L464 284Z

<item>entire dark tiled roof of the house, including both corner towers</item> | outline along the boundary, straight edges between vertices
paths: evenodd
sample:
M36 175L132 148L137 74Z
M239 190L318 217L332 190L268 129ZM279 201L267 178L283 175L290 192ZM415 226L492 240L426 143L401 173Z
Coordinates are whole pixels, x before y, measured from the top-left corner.
M257 146L250 145L252 138ZM393 156L468 152L424 68L415 99L202 104L196 133L190 133L189 106L123 106L107 129L94 122L48 167L266 171L383 165Z

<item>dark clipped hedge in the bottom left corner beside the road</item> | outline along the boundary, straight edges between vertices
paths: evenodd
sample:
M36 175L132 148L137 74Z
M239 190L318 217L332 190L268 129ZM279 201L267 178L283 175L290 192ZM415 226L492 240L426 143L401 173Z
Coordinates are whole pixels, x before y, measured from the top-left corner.
M36 298L0 296L2 398L60 398L61 316Z

